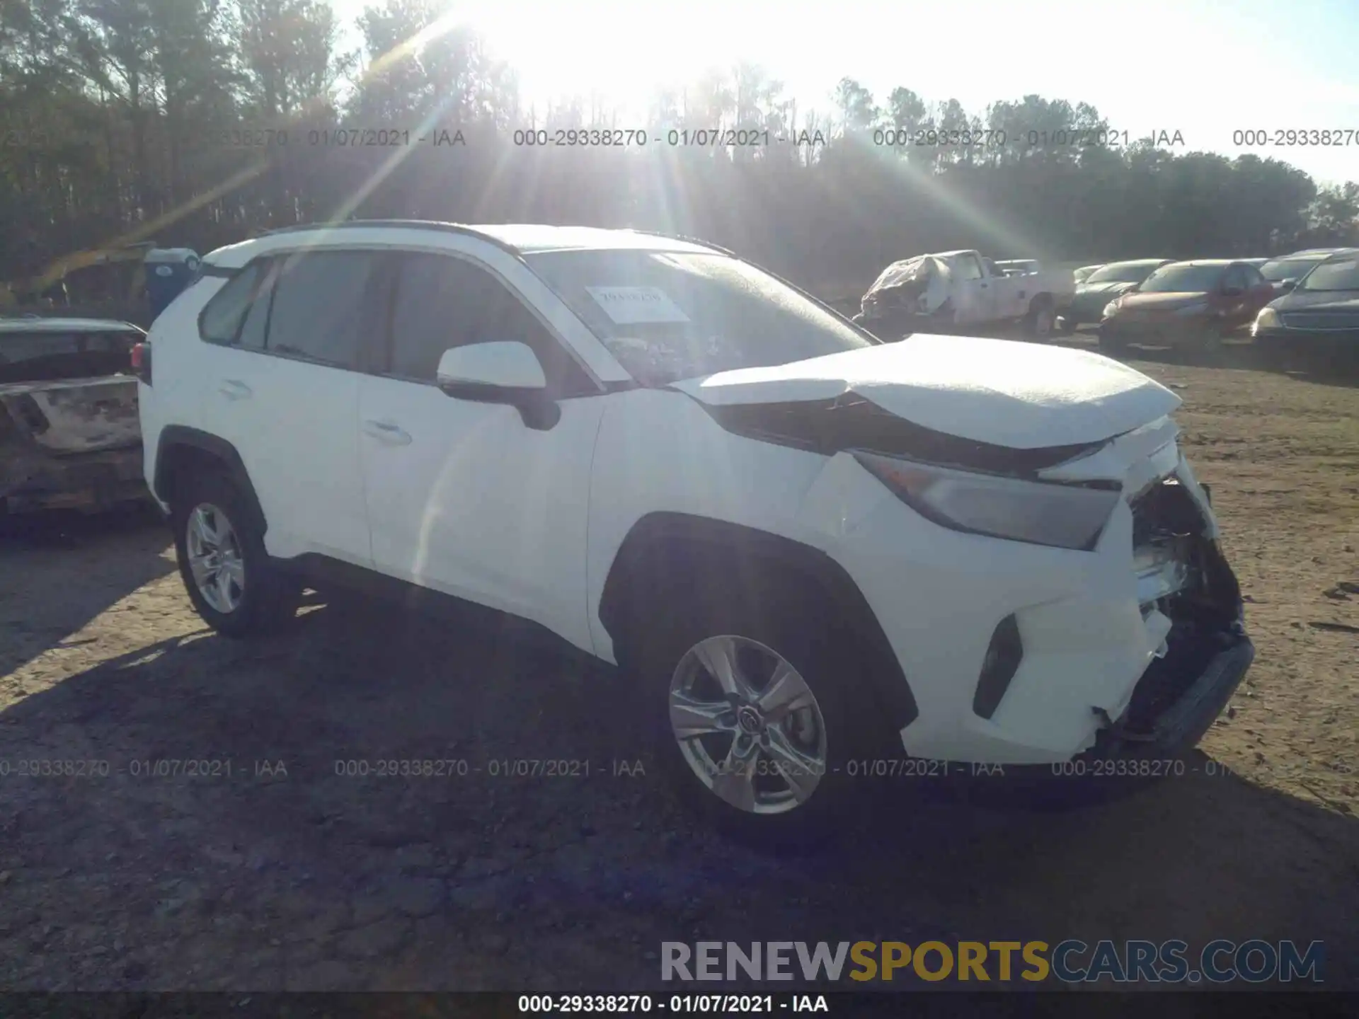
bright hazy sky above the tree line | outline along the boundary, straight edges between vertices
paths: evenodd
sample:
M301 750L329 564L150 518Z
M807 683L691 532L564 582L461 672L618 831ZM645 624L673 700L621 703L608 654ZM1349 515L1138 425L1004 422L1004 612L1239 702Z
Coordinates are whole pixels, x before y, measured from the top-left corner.
M347 26L367 5L330 3ZM594 92L640 117L658 87L747 60L786 84L799 120L829 111L844 76L878 103L905 86L977 114L1037 92L1090 102L1131 137L1178 130L1176 151L1253 151L1320 183L1359 181L1359 0L495 0L451 11L516 68L529 102ZM1349 144L1234 145L1246 129L1339 129Z

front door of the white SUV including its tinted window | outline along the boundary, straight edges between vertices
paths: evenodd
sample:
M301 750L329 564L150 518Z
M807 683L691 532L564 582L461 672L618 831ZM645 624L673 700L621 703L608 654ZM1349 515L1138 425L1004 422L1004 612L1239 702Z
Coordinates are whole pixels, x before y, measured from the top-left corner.
M561 417L444 394L444 351L526 342ZM586 611L590 461L607 397L482 265L401 257L390 351L361 382L359 428L378 569L545 625L593 648Z

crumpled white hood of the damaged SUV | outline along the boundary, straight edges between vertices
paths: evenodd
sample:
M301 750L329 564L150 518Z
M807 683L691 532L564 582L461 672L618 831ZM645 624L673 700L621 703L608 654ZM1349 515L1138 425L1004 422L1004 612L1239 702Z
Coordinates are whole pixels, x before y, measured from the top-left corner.
M1165 386L1098 353L924 333L673 387L711 406L855 393L924 428L1014 450L1101 442L1180 406Z

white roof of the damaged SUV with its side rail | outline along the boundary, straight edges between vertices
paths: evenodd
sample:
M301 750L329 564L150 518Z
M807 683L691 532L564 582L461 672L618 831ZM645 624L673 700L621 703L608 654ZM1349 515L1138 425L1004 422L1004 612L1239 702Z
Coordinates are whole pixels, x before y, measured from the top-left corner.
M467 224L428 224L421 223L352 223L337 230L285 230L277 234L242 240L235 245L219 247L209 251L204 261L209 265L235 268L245 265L251 258L265 251L291 250L306 245L307 238L313 240L323 236L326 242L336 238L345 239L372 239L381 238L389 243L420 242L438 236L439 226L457 227L458 231L480 234L487 239L508 245L523 254L538 251L568 251L568 250L641 250L641 251L688 251L704 253L712 249L690 240L675 240L671 238L654 236L633 230L603 230L601 227L552 227L530 223L496 223L489 226Z

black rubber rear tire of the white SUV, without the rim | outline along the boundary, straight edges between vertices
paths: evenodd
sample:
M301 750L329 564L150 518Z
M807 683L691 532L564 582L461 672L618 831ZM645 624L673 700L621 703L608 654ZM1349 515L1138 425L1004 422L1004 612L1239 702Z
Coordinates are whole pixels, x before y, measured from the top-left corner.
M230 522L245 567L241 601L230 611L219 611L208 605L189 567L189 518L194 508L204 504L216 507ZM189 601L202 621L224 637L276 633L296 618L302 598L302 582L280 569L265 552L264 531L255 523L258 516L254 510L249 496L217 473L194 473L178 481L170 505L175 558Z

